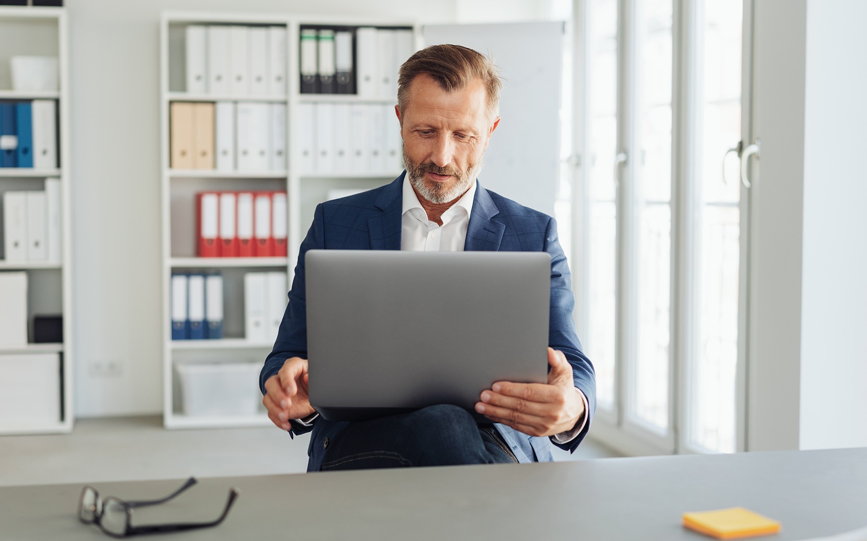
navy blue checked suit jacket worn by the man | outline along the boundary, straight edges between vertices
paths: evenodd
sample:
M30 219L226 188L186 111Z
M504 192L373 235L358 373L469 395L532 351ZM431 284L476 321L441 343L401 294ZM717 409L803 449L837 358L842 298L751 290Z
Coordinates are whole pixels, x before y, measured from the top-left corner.
M307 306L305 299L304 254L314 248L329 249L401 249L402 184L406 172L391 184L355 196L343 197L316 207L313 224L301 244L295 280L289 293L274 349L265 360L259 386L283 366L290 357L307 358ZM478 181L477 181L478 182ZM563 351L569 363L575 386L582 390L590 404L588 420L580 435L560 448L574 451L590 428L596 411L596 382L593 365L581 351L575 332L569 267L563 248L557 240L557 223L551 216L528 209L512 200L482 189L479 185L473 200L473 212L466 231L465 250L547 252L551 254L551 317L549 342ZM322 464L322 442L333 439L347 422L330 422L319 417L313 427L292 423L290 434L313 430L310 438L308 471L317 471ZM494 425L512 448L520 462L547 461L551 457L551 440L522 434L505 425Z

